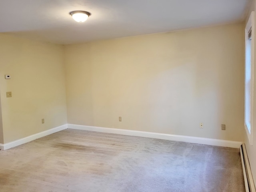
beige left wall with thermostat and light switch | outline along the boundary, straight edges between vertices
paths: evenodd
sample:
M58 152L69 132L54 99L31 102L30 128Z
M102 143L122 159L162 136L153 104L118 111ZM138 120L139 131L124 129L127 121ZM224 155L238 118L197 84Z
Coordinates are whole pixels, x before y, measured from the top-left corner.
M4 143L67 123L63 54L62 45L0 34ZM8 91L12 98L6 98Z

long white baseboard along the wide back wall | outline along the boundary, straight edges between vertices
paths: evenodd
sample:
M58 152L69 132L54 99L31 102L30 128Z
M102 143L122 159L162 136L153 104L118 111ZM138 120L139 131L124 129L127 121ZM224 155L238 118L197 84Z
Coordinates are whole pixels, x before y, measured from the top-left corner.
M105 128L105 127L96 127L96 126L85 126L85 125L76 125L76 124L68 124L68 128L86 130L86 131L130 135L130 136L139 136L139 137L146 137L146 138L156 138L156 139L164 139L164 140L180 141L180 142L188 142L188 143L206 144L206 145L214 145L214 146L222 146L222 147L232 147L232 148L240 148L240 146L242 145L242 142L238 142L238 141L209 139L209 138L201 138L201 137L172 135L172 134L145 132L145 131L134 131L134 130L116 129L116 128Z

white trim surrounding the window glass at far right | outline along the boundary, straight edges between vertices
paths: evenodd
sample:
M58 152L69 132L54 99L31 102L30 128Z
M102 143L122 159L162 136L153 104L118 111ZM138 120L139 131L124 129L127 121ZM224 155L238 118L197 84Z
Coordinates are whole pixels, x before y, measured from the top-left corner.
M248 32L249 30L252 30L252 40L251 40L251 84L250 84L250 128L248 128L246 124L246 105L244 105L244 128L246 130L246 134L248 136L248 140L250 145L252 145L252 136L253 136L253 129L254 129L254 118L253 118L253 111L254 111L254 11L251 12L250 17L248 19L248 22L246 24L245 28L245 43L247 42L248 38ZM245 44L245 66L246 66L246 44ZM246 70L245 70L245 76L246 76ZM245 81L245 94L246 94L246 81ZM246 99L246 96L245 96ZM245 102L246 103L246 102ZM250 132L249 132L250 129Z

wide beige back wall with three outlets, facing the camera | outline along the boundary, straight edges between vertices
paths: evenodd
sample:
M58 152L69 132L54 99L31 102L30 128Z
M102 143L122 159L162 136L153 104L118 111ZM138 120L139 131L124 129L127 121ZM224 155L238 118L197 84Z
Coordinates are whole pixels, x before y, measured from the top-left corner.
M68 123L243 141L244 24L64 48Z

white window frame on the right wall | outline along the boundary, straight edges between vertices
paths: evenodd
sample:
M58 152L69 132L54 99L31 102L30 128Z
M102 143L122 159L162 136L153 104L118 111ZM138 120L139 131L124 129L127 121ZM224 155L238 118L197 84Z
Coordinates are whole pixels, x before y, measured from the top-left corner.
M252 136L253 136L253 109L254 109L254 11L251 12L250 17L246 23L245 27L245 82L244 82L244 128L246 130L246 135L248 137L250 145L252 145ZM248 74L248 33L251 30L251 40L250 40L250 74ZM247 107L247 92L248 92L248 85L247 85L247 78L250 75L250 95L249 95L249 102L250 102L250 110L248 114L248 107ZM250 122L248 124L248 115Z

